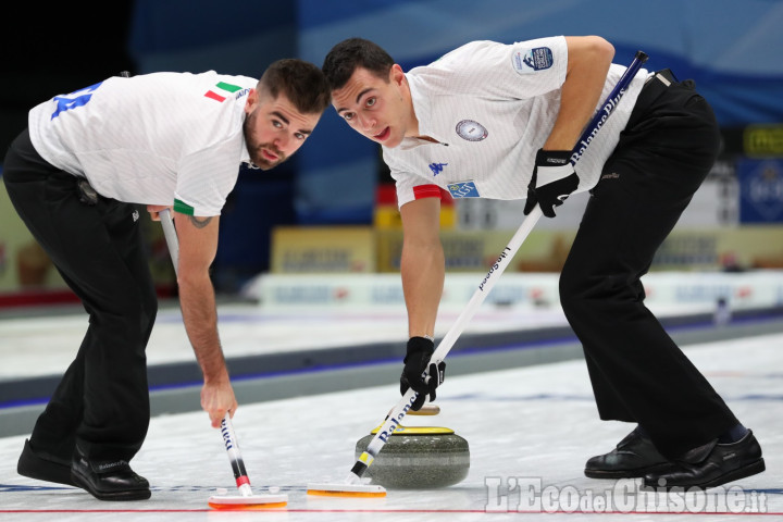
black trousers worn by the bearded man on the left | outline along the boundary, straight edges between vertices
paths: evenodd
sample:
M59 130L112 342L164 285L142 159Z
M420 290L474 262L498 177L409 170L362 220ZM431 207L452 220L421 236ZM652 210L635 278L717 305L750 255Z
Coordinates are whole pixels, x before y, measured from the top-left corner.
M137 209L102 197L95 206L80 202L77 178L47 163L26 130L5 156L3 179L20 216L89 314L87 334L30 444L69 463L76 445L95 461L130 460L149 426L145 349L158 311Z

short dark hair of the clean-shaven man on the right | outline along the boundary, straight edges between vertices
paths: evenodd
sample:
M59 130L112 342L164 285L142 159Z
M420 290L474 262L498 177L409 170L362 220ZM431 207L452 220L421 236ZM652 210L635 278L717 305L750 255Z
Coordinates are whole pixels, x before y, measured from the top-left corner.
M348 38L332 48L321 69L334 90L343 88L358 67L388 79L388 72L394 63L389 53L377 44L363 38Z

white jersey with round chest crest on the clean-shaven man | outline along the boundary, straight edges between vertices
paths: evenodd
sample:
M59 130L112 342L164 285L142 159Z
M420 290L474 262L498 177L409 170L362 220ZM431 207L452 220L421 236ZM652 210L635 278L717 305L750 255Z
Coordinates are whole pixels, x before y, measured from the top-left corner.
M398 204L438 196L439 188L455 198L526 198L536 151L560 109L567 65L566 38L552 37L511 46L474 41L411 70L406 76L419 134L440 144L405 138L383 148ZM624 71L611 65L596 110ZM576 163L577 191L598 183L646 76L641 70Z

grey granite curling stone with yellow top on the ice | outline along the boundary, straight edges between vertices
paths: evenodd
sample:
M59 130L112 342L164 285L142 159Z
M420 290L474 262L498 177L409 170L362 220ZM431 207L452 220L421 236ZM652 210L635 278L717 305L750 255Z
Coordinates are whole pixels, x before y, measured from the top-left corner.
M359 439L356 458L377 433ZM448 427L398 426L381 448L365 475L372 483L397 489L434 489L457 484L468 476L468 440Z

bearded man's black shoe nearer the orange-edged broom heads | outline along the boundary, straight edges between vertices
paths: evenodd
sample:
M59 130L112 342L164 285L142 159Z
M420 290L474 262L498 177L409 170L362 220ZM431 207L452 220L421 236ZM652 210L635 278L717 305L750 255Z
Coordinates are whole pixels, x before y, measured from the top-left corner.
M147 500L151 495L147 478L137 475L124 460L90 462L77 451L71 477L76 486L100 500Z

